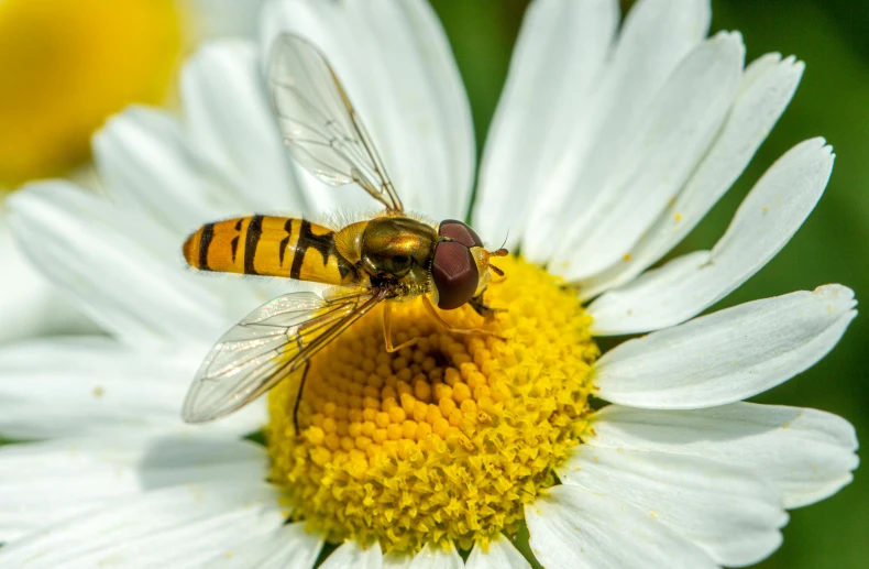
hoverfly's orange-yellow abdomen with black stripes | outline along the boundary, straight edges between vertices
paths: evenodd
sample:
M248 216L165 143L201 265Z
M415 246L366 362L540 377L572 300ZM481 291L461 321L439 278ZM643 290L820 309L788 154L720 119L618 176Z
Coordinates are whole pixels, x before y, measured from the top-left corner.
M184 258L202 271L334 285L356 284L360 278L338 253L334 232L304 219L249 216L207 223L184 243Z

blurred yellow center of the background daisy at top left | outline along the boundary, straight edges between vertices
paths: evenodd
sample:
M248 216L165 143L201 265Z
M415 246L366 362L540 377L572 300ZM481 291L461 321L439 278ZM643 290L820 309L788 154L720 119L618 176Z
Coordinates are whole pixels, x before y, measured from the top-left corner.
M0 186L61 174L132 102L162 102L182 47L175 0L0 1Z

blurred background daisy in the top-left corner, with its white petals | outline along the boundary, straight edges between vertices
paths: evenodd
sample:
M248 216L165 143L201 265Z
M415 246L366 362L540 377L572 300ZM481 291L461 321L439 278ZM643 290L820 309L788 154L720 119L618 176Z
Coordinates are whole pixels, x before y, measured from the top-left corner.
M14 247L2 201L66 174L90 136L132 102L162 103L183 53L255 35L261 0L4 0L0 4L0 341L92 330ZM79 177L84 178L85 173ZM78 175L78 174L76 174Z

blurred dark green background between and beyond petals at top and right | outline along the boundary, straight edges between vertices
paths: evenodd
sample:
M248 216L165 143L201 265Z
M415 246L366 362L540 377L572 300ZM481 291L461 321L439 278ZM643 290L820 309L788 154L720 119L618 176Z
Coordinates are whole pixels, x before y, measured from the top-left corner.
M581 0L578 0L581 1ZM526 0L432 0L468 87L482 150ZM630 1L623 1L628 7ZM833 179L790 244L719 306L843 283L869 299L869 6L855 0L713 1L712 32L738 30L747 62L768 52L796 55L806 72L793 102L751 165L676 253L710 248L763 171L788 149L823 135L835 147ZM869 440L869 317L858 316L821 363L757 397L846 417ZM869 567L869 478L834 497L791 512L784 545L763 569Z

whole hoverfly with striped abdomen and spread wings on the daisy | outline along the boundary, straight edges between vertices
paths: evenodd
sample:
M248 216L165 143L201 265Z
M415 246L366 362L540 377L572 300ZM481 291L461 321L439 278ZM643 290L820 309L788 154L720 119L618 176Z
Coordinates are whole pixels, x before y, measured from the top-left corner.
M465 223L430 225L405 214L380 155L326 57L295 35L280 36L270 68L272 105L290 155L320 180L355 183L385 206L371 219L330 229L305 219L248 216L206 223L184 243L184 256L200 271L296 278L337 285L320 297L292 293L248 315L215 344L200 365L182 412L187 423L222 417L278 382L298 382L301 398L308 361L372 308L384 304L386 350L393 346L392 303L420 298L444 329L443 310L470 304L479 314L492 274L492 256ZM298 425L296 424L298 433Z

